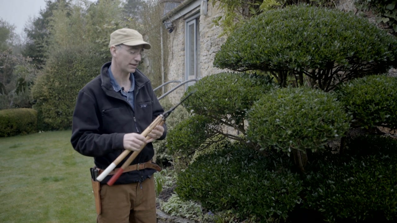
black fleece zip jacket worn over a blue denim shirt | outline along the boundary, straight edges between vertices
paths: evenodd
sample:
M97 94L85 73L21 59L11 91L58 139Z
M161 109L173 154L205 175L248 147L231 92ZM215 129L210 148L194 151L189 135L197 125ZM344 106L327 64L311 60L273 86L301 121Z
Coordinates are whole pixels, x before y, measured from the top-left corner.
M133 110L127 99L113 90L108 75L109 67L110 62L105 63L100 75L79 91L73 112L71 144L80 154L94 157L94 163L100 169L106 169L123 152L123 137L126 133L142 133L164 112L149 79L138 69L133 73ZM159 140L164 139L166 133L164 124L164 134ZM153 145L148 143L131 164L144 163L153 156ZM121 167L126 159L117 167ZM154 169L143 169L123 173L115 184L142 182L154 172ZM101 183L106 183L110 177Z

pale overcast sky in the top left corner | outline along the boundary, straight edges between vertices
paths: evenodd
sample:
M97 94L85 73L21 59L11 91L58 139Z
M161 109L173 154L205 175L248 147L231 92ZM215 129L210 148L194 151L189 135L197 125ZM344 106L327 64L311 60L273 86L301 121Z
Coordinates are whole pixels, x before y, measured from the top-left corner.
M29 17L37 17L45 7L45 0L0 0L0 17L14 25L15 33L21 35Z

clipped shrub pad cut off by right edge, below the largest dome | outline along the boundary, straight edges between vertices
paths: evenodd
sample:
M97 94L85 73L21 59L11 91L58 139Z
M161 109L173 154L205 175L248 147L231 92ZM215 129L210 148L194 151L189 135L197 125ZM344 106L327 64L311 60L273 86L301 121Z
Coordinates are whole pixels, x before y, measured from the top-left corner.
M371 75L354 79L337 88L338 98L353 123L366 129L397 127L397 78Z

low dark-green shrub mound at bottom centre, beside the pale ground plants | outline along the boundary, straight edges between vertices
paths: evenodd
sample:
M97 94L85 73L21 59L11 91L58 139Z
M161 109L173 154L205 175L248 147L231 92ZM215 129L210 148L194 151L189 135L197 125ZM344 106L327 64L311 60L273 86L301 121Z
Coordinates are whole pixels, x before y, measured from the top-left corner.
M175 192L208 210L233 210L243 219L286 219L301 202L299 176L241 145L199 156L179 173Z

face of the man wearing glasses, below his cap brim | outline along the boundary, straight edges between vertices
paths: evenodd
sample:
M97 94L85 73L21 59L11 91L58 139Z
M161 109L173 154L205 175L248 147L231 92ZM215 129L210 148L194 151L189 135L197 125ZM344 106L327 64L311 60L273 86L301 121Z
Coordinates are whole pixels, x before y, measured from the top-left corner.
M121 44L116 46L115 50L116 63L118 63L120 69L124 72L134 73L143 56L143 45L127 46Z

